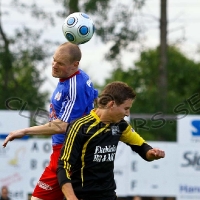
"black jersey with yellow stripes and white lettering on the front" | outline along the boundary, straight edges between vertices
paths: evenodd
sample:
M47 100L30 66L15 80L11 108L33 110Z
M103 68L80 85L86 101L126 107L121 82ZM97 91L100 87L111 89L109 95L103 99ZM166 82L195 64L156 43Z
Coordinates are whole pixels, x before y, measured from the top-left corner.
M146 152L152 149L125 120L105 124L95 110L70 124L58 161L60 186L71 182L78 198L112 194L116 189L113 169L119 141L145 160Z

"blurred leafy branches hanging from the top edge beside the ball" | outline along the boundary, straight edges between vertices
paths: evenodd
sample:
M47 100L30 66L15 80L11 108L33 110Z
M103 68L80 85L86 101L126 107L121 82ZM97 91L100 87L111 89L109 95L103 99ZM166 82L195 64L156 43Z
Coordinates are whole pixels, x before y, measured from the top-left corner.
M54 0L62 5L57 15L66 18L73 12L86 12L92 16L96 35L102 42L109 42L105 58L109 61L121 60L121 53L133 50L140 29L134 23L135 12L142 8L145 0ZM62 10L63 9L63 10Z

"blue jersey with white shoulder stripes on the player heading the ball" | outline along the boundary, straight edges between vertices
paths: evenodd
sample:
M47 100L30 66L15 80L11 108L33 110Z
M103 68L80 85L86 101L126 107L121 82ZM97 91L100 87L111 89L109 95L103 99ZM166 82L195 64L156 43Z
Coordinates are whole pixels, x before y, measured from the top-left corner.
M51 97L50 121L60 119L71 122L89 114L94 108L98 92L94 89L89 76L79 69L67 79L60 79ZM62 144L65 133L54 134L52 144Z

